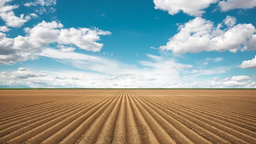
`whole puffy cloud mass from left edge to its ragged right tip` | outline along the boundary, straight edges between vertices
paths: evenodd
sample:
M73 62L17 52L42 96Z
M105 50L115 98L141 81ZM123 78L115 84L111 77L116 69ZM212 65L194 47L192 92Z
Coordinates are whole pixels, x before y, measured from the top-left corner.
M96 42L100 40L99 35L111 34L111 32L97 28L63 29L63 25L56 21L42 21L32 28L24 28L24 31L26 36L19 35L16 38L8 38L0 32L0 46L2 48L0 49L0 64L10 65L18 61L33 60L37 59L38 55L70 58L68 54L72 54L72 56L78 56L79 59L81 57L83 59L95 59L89 55L72 52L75 48L64 45L75 45L80 49L98 52L103 47L103 44ZM59 50L46 48L52 43L59 44L57 46Z

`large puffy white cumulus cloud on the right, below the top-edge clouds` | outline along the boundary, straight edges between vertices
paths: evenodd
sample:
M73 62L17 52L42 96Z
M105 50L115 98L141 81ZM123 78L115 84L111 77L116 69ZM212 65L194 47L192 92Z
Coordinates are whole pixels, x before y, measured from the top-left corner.
M226 19L230 19L227 17ZM233 19L233 18L231 18ZM232 20L224 20L229 26L228 29L221 30L222 24L214 27L213 22L196 17L181 26L179 32L169 39L165 46L160 46L161 50L171 50L173 53L198 53L201 51L237 52L244 51L244 46L248 45L253 33L256 31L252 24L237 24Z

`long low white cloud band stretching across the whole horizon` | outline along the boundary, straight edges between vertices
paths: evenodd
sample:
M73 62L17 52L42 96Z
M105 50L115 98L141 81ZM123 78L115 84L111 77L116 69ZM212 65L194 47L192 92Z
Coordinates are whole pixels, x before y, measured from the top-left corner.
M242 82L231 80L232 77L227 81L216 77L212 80L197 79L197 81L195 81L189 77L175 75L172 73L174 72L172 70L167 72L161 70L161 72L164 72L163 74L157 74L157 72L159 72L157 69L147 70L147 73L145 73L144 70L132 70L135 70L133 71L134 74L124 74L124 70L118 71L119 75L114 75L118 77L118 79L105 74L69 70L46 72L31 71L36 74L30 74L30 76L19 75L18 78L15 75L8 75L11 72L2 72L0 74L0 85L42 88L113 88L115 84L118 84L118 88L255 88L256 86L255 78L243 80ZM132 70L129 71L131 72ZM25 73L28 70L19 68L18 71ZM38 76L38 73L43 73L43 75ZM152 77L152 74L154 77ZM74 75L76 76L74 77ZM106 77L113 77L113 79L111 78L112 80L107 81L105 79Z

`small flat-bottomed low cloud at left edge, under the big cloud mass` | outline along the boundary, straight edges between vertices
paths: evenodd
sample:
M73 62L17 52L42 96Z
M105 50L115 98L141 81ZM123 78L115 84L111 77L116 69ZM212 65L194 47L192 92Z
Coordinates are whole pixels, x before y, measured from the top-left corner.
M45 77L47 73L44 72L34 72L31 70L27 70L26 68L20 67L17 71L13 72L1 72L2 78L12 78L12 79L28 79L34 77Z

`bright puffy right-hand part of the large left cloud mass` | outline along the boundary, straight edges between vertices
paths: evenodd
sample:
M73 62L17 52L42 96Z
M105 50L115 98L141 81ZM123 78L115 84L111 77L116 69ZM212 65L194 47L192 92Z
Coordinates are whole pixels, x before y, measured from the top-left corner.
M56 21L42 21L33 28L26 29L28 33L27 42L33 47L38 48L53 42L57 42L58 44L73 44L87 51L98 52L103 46L103 44L96 42L100 40L99 35L111 34L109 31L99 30L98 28L61 28L63 28L63 25Z

